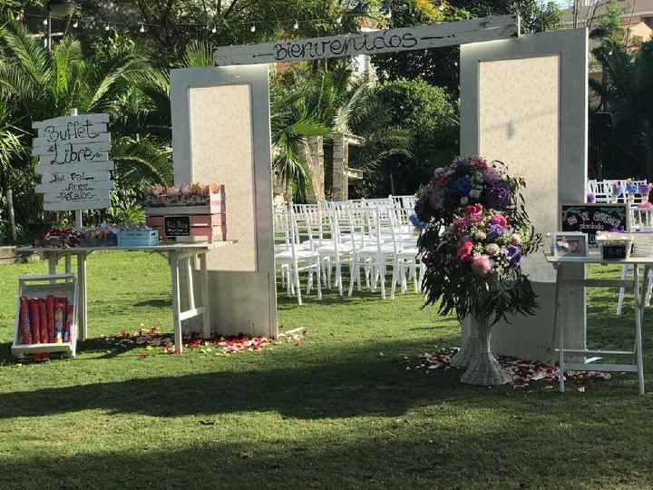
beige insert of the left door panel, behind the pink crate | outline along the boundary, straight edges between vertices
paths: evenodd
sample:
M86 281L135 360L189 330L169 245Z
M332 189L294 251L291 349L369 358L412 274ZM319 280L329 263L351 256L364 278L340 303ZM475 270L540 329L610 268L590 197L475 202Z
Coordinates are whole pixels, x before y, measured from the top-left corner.
M254 164L249 84L191 87L190 152L195 181L227 192L229 250L209 254L210 270L257 270ZM219 117L213 117L219 114Z

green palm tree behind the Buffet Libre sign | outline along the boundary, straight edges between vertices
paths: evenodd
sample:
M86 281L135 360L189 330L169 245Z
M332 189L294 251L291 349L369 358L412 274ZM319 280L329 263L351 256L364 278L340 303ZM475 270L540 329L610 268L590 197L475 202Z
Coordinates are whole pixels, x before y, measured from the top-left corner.
M20 158L12 167L21 170L21 187L34 188L34 167L27 149L29 136L34 135L32 122L71 113L109 113L112 138L112 158L116 162L116 181L128 185L144 181L160 183L170 179L170 139L151 137L144 128L148 106L146 99L132 84L132 77L155 79L148 58L133 43L109 44L102 54L87 56L82 45L71 37L56 44L52 52L33 37L13 18L5 18L0 26L0 101L10 107L14 129L23 147ZM144 131L143 131L144 130ZM144 132L144 134L140 134ZM26 134L28 137L21 137ZM144 179L135 179L135 173ZM28 210L20 218L34 218L34 192ZM24 203L28 204L28 203ZM31 215L31 216L30 216Z

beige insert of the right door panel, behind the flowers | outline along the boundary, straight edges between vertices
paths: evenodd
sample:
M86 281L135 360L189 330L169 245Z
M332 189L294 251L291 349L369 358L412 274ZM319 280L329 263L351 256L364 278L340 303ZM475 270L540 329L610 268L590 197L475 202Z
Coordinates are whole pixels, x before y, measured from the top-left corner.
M542 235L557 230L560 56L482 62L479 101L481 155L524 177L536 230ZM555 281L541 253L525 261L524 271L534 281Z

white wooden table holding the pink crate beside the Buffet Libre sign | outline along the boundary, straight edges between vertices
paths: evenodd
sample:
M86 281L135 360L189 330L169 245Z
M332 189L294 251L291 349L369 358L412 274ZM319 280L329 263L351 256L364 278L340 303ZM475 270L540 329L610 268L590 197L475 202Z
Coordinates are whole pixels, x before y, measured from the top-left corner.
M218 247L228 246L234 241L218 241L213 243L177 243L171 245L153 245L150 247L73 247L69 249L55 248L34 248L23 247L16 249L20 253L37 253L42 259L48 260L48 273L55 275L57 264L63 257L65 260L65 272L70 273L72 268L72 256L77 256L77 287L78 287L78 338L86 339L87 325L87 300L86 300L86 259L96 251L148 251L164 255L171 267L172 279L172 325L174 327L175 349L183 350L181 341L181 322L196 317L202 318L202 337L210 338L210 308L209 308L209 272L207 270L207 253ZM200 260L201 280L201 306L195 301L193 289L193 265ZM180 270L186 268L189 309L181 311L180 303Z

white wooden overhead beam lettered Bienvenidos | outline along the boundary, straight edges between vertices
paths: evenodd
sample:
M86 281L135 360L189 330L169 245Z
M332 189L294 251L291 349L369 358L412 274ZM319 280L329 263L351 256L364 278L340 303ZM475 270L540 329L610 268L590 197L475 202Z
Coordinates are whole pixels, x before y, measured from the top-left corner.
M220 46L213 51L213 63L216 66L293 63L478 43L518 37L519 34L519 15L502 15L442 25L421 25L279 43Z

